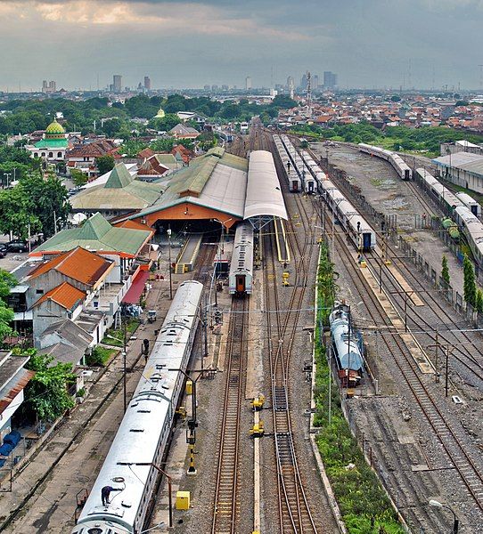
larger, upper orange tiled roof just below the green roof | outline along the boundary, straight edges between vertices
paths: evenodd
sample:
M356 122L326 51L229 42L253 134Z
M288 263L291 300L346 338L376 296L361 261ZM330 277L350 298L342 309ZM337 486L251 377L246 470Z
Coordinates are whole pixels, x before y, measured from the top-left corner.
M41 263L29 276L35 278L51 269L61 272L71 279L78 280L88 286L94 286L102 275L111 268L112 262L100 255L89 252L85 248L77 247L52 260Z

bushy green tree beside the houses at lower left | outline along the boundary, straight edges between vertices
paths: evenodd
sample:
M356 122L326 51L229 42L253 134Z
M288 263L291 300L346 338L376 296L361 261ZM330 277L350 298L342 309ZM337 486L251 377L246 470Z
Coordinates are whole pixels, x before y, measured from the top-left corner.
M35 349L26 368L35 371L25 388L25 409L43 421L53 421L74 406L68 387L76 380L70 363L55 363L53 357L38 354Z

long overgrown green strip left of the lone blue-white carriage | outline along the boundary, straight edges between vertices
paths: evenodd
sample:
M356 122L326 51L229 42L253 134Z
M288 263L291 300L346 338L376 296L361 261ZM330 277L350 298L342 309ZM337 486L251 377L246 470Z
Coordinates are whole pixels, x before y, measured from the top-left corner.
M323 345L323 326L328 325L335 296L333 264L328 247L321 245L321 259L317 271L317 326L315 329L315 426L320 427L316 441L332 490L340 506L340 513L349 534L386 532L403 534L397 514L381 486L381 482L367 465L364 455L350 433L340 406L338 384L332 381L332 417L329 425L328 396L332 380ZM348 464L355 468L347 470Z

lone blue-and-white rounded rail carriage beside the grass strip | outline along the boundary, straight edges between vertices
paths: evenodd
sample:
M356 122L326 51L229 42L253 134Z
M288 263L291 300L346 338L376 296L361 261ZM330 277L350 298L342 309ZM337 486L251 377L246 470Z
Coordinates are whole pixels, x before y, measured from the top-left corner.
M364 349L361 337L349 324L348 306L335 303L329 324L340 383L342 387L354 387L364 372Z

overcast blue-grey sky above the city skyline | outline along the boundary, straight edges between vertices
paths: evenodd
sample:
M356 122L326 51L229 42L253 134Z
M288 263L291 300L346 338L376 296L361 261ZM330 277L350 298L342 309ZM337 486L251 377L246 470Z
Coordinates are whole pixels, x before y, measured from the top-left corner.
M480 87L483 0L0 0L0 89Z

